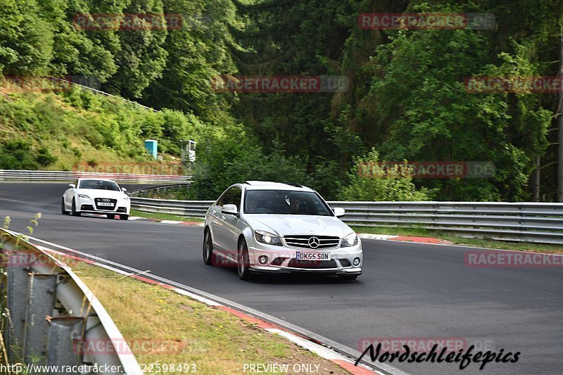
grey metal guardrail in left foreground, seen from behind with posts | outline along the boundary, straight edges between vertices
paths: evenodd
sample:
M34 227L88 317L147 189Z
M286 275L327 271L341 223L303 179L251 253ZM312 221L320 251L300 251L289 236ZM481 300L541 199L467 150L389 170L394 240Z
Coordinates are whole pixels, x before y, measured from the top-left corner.
M95 364L100 374L142 374L132 354L81 350L81 343L111 343L119 348L125 341L76 274L49 252L11 231L0 228L0 243L4 266L1 284L7 290L7 298L4 293L0 298L4 307L2 337L8 363L24 363L24 369L31 364L59 369ZM2 357L0 362L6 360ZM47 373L55 372L51 369Z

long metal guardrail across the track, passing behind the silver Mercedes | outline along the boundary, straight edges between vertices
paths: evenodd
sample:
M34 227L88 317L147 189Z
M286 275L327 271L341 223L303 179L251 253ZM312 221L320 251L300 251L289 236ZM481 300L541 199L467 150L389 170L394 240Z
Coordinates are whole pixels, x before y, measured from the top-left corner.
M204 217L213 201L131 198L145 212ZM328 202L346 210L347 224L450 231L466 237L563 244L563 203Z

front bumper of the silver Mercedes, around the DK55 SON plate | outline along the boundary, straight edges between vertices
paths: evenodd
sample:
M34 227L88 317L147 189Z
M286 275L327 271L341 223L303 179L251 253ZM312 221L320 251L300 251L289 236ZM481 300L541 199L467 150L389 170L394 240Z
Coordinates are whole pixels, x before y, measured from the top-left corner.
M329 253L330 260L296 260L297 252ZM267 262L260 262L260 257L267 257ZM257 241L248 243L250 270L253 273L288 274L288 273L319 273L319 274L362 274L363 253L362 242L346 248L329 250L311 250L271 246ZM355 258L360 264L353 265Z

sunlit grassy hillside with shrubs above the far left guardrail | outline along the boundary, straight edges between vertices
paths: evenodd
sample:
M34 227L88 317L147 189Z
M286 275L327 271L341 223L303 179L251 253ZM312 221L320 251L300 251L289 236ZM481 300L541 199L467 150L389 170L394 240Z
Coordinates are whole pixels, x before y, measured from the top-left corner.
M163 163L179 162L179 141L198 139L194 115L153 112L91 91L0 93L0 169L73 170L144 163L157 139Z

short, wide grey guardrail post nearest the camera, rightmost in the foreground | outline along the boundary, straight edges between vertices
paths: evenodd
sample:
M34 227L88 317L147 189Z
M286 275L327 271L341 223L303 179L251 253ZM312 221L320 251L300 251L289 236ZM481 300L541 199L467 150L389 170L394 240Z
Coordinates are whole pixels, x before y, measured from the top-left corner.
M59 367L79 365L84 319L81 317L47 317L47 322L49 323L47 365Z

